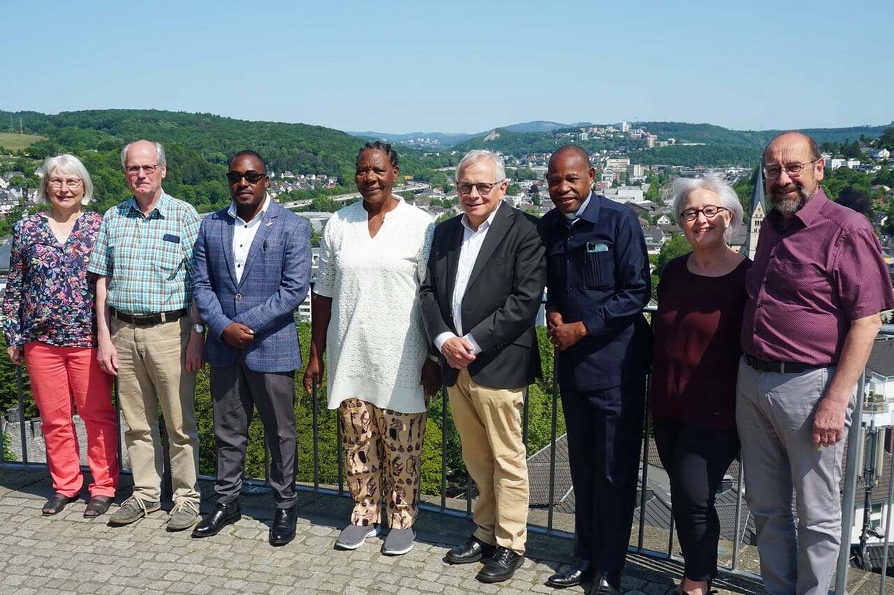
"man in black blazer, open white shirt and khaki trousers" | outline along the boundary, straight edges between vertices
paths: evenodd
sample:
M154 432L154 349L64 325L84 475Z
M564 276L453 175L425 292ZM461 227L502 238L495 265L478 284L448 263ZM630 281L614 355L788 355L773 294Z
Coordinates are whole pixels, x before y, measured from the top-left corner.
M441 352L443 381L475 480L476 532L451 564L485 558L481 582L510 578L527 540L527 461L521 407L540 374L534 320L546 281L536 219L503 203L502 157L470 151L457 166L463 213L434 230L423 323Z

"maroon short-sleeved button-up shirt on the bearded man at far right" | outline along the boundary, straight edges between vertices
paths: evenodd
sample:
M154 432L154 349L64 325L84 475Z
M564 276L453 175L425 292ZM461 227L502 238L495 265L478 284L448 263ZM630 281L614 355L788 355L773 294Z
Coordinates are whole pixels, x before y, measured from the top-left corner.
M742 348L764 361L836 365L850 323L894 307L872 225L822 189L788 221L767 214L746 289Z

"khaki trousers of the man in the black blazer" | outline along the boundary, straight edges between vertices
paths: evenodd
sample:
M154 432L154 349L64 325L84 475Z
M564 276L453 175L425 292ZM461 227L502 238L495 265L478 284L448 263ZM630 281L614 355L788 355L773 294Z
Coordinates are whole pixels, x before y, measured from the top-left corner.
M527 459L521 440L525 389L491 389L460 370L447 388L462 459L478 486L475 536L522 554L527 541Z

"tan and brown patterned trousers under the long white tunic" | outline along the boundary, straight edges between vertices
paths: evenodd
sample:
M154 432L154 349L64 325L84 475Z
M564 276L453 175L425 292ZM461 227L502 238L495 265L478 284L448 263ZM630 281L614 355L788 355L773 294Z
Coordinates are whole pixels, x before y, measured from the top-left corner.
M426 413L380 409L358 398L338 407L344 469L354 498L351 524L367 526L382 517L382 499L392 529L416 521Z

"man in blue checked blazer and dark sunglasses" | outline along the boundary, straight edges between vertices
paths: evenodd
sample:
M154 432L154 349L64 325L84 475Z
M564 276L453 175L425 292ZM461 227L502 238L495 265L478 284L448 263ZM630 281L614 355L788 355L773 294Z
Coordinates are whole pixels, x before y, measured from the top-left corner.
M193 292L207 325L205 359L217 441L217 503L192 532L209 537L240 518L239 492L254 407L270 447L276 511L270 543L295 537L295 370L292 312L308 294L310 224L266 194L266 163L254 151L230 161L232 205L198 231Z

